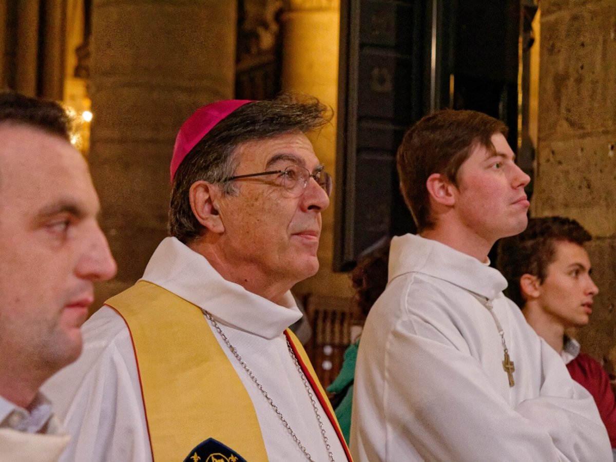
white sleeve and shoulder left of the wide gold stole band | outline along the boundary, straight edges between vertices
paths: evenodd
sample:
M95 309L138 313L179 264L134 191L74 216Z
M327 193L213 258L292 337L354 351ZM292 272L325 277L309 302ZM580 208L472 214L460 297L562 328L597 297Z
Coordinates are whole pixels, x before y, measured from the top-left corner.
M73 434L60 462L151 462L128 328L107 307L88 323L84 325L81 357L44 386L67 431Z

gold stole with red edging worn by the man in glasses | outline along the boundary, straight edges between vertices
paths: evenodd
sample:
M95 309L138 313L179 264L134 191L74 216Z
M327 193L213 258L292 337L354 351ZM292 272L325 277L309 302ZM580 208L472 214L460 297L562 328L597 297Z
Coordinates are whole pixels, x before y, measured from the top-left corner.
M267 461L253 403L199 307L147 281L105 304L131 333L155 461L184 460L208 438L251 462ZM290 330L285 334L350 461L306 351Z

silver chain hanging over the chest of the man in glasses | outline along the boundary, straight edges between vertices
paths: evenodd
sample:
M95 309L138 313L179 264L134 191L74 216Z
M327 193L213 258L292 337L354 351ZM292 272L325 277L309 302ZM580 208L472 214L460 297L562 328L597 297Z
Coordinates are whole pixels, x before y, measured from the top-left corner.
M240 362L241 367L246 371L246 373L248 373L248 376L251 378L253 383L257 386L257 388L259 389L263 397L267 400L267 402L272 407L272 409L274 410L274 412L276 413L276 415L278 416L282 424L285 426L286 431L288 431L291 438L293 438L294 442L298 445L301 452L304 453L304 456L306 456L306 459L309 460L310 462L314 462L314 460L312 460L312 456L306 450L306 447L299 440L298 436L295 434L295 432L293 431L289 423L286 421L286 419L282 415L282 412L280 412L280 410L278 409L278 406L274 404L274 400L272 400L272 398L270 397L269 394L267 394L267 391L265 391L261 383L259 383L257 378L254 376L253 371L251 371L248 368L248 365L244 362L244 360L241 359L240 354L237 352L237 348L235 348L231 344L231 342L229 341L225 333L222 331L221 326L218 325L216 320L212 317L211 314L209 314L209 312L207 312L203 308L201 308L201 311L203 311L203 314L205 314L205 317L208 318L209 322L212 324L214 329L216 329L216 332L221 336L222 340L225 342L227 347L229 347L229 350L232 352L233 356L235 356L235 359L237 359L238 362ZM301 378L302 383L304 383L304 388L306 388L306 392L308 393L308 397L310 398L310 403L312 403L312 409L314 410L314 415L317 417L318 428L321 431L321 436L323 438L323 442L325 443L327 454L330 457L330 462L334 462L334 455L331 453L331 446L325 434L325 428L323 427L323 420L321 419L321 415L318 413L317 402L314 399L314 395L310 391L310 385L306 379L306 376L304 375L304 371L302 371L302 368L299 365L298 359L295 357L295 354L293 353L293 349L291 349L291 344L288 339L286 339L286 347L289 350L289 354L291 355L291 359L293 360L293 363L295 364L295 368L298 370L299 378Z

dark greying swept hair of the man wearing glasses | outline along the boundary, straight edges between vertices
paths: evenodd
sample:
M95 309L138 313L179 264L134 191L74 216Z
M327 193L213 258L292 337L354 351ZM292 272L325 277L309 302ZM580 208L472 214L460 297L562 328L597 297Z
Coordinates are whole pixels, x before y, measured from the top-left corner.
M234 153L241 144L293 131L314 131L330 118L325 105L305 95L282 94L271 101L254 101L237 108L190 150L177 169L171 190L169 233L184 243L203 233L190 207L190 187L199 180L214 184L233 176L237 168ZM222 185L223 194L236 192L232 183Z

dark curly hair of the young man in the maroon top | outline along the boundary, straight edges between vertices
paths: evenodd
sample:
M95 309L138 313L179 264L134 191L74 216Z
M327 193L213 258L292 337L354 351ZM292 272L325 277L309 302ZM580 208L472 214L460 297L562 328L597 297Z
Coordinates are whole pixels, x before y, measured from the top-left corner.
M543 282L556 254L554 242L567 241L581 246L590 240L591 235L575 220L564 217L530 219L524 232L498 242L496 267L508 282L505 295L517 306L524 307L526 301L520 279L530 274Z

